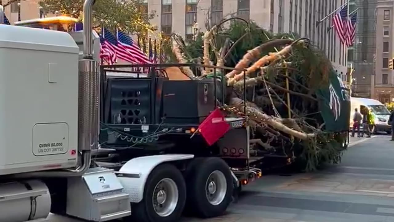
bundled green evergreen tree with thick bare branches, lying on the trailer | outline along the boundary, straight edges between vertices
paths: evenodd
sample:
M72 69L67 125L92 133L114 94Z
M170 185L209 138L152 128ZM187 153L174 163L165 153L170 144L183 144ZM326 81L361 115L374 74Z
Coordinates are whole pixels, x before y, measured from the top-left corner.
M244 101L237 95L243 90L242 69L247 69L246 97L253 102L246 101L247 117L254 129L253 139L261 141L256 146L261 151L295 159L303 169L311 171L323 163L340 162L345 134L325 129L322 98L316 94L332 83L335 73L330 60L309 40L295 39L293 34L272 34L256 24L237 21L232 21L229 28L217 28L210 33L212 45L218 48L230 40L233 45L223 47L230 50L225 53L229 56L219 60L223 59L227 67L238 68L221 79L228 85L227 92L232 92L226 94L224 102L228 105L224 108L232 115L243 116L239 106ZM218 53L211 51L208 55L205 50L203 55L203 43L203 35L199 35L180 49L182 55L204 58L205 63L209 59L210 64L216 64ZM221 51L220 55L223 54ZM201 74L206 74L205 78L214 76L212 71L195 73ZM290 106L285 102L288 95Z

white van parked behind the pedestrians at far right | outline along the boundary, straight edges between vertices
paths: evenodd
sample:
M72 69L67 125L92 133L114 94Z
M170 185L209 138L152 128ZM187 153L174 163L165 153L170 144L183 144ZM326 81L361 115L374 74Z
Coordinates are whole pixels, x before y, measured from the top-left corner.
M390 111L388 111L387 107L383 105L383 103L379 102L378 100L368 98L351 97L350 107L350 127L353 127L354 109L357 108L358 111L361 112L361 110L364 110L365 107L368 107L371 109L375 121L375 124L372 127L372 133L375 134L378 131L384 131L388 134L391 134L391 125L388 124Z

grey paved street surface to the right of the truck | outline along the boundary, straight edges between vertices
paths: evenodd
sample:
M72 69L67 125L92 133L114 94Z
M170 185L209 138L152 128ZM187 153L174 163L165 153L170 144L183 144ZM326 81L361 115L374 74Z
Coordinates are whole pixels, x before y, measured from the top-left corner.
M394 222L394 142L389 140L388 135L351 138L339 165L263 176L245 187L226 215L182 222Z

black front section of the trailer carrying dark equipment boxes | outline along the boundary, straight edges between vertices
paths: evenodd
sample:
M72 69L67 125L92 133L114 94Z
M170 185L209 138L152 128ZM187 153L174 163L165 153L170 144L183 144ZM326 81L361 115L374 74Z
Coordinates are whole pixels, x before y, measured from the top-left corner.
M139 156L147 153L183 153L199 157L217 157L225 160L230 169L235 172L234 175L240 180L240 182L235 181L235 183L246 185L260 178L262 176L261 169L249 166L249 158L251 157L249 152L250 134L249 127L245 124L245 118L225 117L230 130L213 146L209 147L199 134L201 121L224 100L225 87L221 85L221 82L214 84L212 79L202 81L165 80L165 75L171 73L165 73L162 77L157 77L157 75L160 75L159 73L163 72L164 68L170 66L192 67L195 64L112 65L101 67L103 83L101 85L103 88L101 147L113 149L123 154L127 153L125 156ZM149 77L146 73L138 72L138 70L147 70L147 68L150 70ZM167 86L167 83L170 86ZM182 88L185 91L174 92L172 84L175 84L175 87L186 85ZM142 86L145 86L145 88ZM166 91L169 89L168 87L171 87L171 92ZM193 94L194 92L196 93ZM197 92L200 92L200 94ZM177 99L186 102L185 96L188 94L195 96L190 98L195 102L188 102L188 105L203 110L202 115L198 113L199 111L196 111L190 116L185 116L186 112L193 111L189 107L182 106L182 104L176 105L174 103ZM167 95L177 98L166 100ZM143 99L139 98L145 98L145 101L142 102ZM136 103L136 101L138 102ZM167 103L170 105L167 105ZM137 109L138 113L136 113ZM139 115L139 113L145 113L145 115ZM180 117L177 117L174 113L180 114ZM145 122L145 124L141 122ZM161 132L162 135L156 136L158 132Z

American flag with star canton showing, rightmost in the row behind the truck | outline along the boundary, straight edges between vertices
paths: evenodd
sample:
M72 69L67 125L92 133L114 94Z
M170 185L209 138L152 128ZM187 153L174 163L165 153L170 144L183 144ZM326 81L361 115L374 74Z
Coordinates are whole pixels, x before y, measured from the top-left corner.
M121 45L126 52L133 56L132 63L135 64L151 64L151 61L145 55L145 53L139 48L137 43L127 34L122 31L117 32L118 43Z

